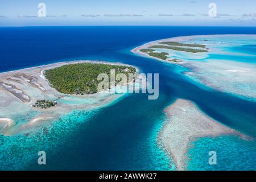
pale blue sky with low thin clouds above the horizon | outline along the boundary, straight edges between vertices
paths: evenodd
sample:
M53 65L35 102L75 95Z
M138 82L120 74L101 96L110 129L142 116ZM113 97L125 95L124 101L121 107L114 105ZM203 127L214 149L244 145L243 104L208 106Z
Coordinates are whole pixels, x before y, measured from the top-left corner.
M38 17L38 4L46 17ZM217 17L210 17L209 3ZM0 0L0 26L256 26L255 0Z

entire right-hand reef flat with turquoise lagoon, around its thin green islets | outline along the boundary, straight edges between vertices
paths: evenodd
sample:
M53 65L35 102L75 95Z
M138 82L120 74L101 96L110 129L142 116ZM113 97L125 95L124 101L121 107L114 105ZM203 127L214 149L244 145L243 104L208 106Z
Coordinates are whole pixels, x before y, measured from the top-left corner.
M164 49L163 47L154 48L156 52L167 53L167 59L163 60L140 51L163 42L177 42L180 45L204 45L207 52L192 53ZM188 68L185 75L210 88L247 100L256 100L256 53L253 46L255 42L256 35L183 36L146 43L133 49L132 52L166 63L180 64ZM199 49L199 47L192 48Z

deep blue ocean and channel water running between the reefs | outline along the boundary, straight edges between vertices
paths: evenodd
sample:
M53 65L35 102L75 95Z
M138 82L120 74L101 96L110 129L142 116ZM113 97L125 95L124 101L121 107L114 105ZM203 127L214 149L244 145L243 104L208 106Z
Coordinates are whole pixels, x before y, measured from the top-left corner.
M159 73L158 100L147 100L145 94L131 94L99 109L76 130L71 130L68 138L58 135L52 138L52 143L46 141L47 145L59 144L46 151L46 166L39 166L37 160L20 165L24 169L169 170L173 164L159 146L157 135L164 121L164 108L176 98L191 100L213 119L256 137L256 102L204 89L182 74L185 68L130 52L152 40L207 34L256 34L256 27L0 28L0 72L89 59L121 62L135 65L144 73ZM251 46L249 51L255 50ZM217 166L207 166L207 151L214 146L220 150L221 160ZM189 162L189 169L255 169L256 166L255 142L241 142L233 137L201 139L191 154L195 158Z

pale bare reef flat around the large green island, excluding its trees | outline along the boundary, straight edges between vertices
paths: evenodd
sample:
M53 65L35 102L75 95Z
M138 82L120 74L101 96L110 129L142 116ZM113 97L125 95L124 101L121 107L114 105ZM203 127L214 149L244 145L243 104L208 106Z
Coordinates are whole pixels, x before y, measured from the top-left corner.
M0 134L26 134L72 110L91 110L106 106L124 94L95 93L72 95L58 92L49 85L44 71L67 64L104 63L104 61L71 61L0 73ZM115 65L124 65L115 63ZM32 107L38 100L56 101L46 109Z

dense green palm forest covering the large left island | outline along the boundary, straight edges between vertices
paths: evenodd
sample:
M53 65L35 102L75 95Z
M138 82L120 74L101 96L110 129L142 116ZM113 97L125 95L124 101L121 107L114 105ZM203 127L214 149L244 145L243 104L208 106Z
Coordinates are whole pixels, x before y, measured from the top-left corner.
M115 75L135 73L136 69L125 65L79 63L68 64L62 67L48 69L46 78L53 88L66 94L93 94L97 93L97 80L100 73L106 73L110 81L110 69L115 69ZM115 83L117 83L116 81Z

